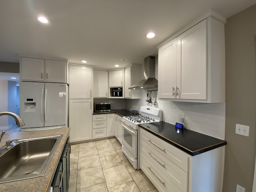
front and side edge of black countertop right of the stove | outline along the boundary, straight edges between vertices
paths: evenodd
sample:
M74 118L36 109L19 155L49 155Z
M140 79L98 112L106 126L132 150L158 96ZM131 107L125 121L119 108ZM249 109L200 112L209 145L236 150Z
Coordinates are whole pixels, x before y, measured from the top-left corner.
M160 135L160 134L158 134L158 133L156 133L156 132L154 132L154 131L152 131L152 130L146 128L145 126L143 126L143 124L139 124L139 127L141 127L141 128L143 128L144 130L146 130L146 131L152 133L153 135L157 136L158 138L160 138L160 139L162 139L162 140L168 142L169 144L171 144L171 145L177 147L178 149L180 149L180 150L186 152L187 154L189 154L189 155L191 155L191 156L195 156L195 155L198 155L198 154L201 154L201 153L204 153L204 152L207 152L207 151L216 149L216 148L218 148L218 147L221 147L221 146L224 146L224 145L227 144L226 141L223 141L223 142L217 143L217 144L215 144L215 145L211 145L211 146L209 146L209 147L205 147L205 148L202 148L202 149L199 149L199 150L192 151L192 150L189 150L189 149L185 148L184 146L182 146L182 145L180 145L180 144L178 144L178 143L176 143L176 142L173 142L172 140L170 140L170 139L168 139L168 138L166 138L166 137L164 137L164 136L162 136L162 135Z

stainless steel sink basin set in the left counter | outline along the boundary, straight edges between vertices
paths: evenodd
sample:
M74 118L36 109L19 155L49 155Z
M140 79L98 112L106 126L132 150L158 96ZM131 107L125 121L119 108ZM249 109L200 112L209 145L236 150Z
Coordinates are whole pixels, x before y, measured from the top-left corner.
M12 142L0 155L0 183L43 176L62 135Z

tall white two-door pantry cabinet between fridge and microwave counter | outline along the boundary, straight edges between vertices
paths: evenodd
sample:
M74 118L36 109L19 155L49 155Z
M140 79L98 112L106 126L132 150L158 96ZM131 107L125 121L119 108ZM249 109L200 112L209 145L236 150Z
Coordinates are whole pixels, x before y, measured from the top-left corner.
M92 139L92 68L69 65L70 142Z

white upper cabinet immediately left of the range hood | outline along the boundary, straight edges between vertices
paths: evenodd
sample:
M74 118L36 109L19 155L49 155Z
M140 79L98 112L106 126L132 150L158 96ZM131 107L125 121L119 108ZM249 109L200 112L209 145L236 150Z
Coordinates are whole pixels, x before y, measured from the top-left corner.
M139 82L141 79L140 74L141 65L132 64L124 70L124 98L139 99L142 96L142 90L129 89L133 84Z

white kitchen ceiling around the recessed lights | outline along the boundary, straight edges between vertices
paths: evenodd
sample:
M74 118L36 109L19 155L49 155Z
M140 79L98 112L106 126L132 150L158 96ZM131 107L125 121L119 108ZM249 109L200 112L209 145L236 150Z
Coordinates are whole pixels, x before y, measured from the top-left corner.
M2 0L0 61L19 62L18 54L29 54L86 60L96 68L142 64L158 54L158 44L205 12L228 18L253 4L256 0ZM50 22L38 22L39 15ZM147 39L149 31L156 37Z

